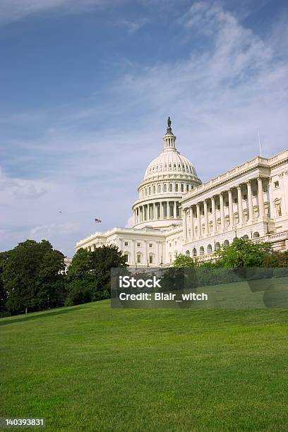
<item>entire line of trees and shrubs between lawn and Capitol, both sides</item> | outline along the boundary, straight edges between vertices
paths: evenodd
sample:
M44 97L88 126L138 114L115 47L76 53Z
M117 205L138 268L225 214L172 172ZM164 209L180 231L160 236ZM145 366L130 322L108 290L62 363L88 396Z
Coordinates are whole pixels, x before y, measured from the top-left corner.
M0 316L43 311L109 299L111 268L126 268L126 257L116 246L95 251L79 249L66 272L64 254L47 240L26 240L0 253ZM174 268L288 267L288 251L272 252L268 243L234 239L221 246L216 259L201 262L180 254Z

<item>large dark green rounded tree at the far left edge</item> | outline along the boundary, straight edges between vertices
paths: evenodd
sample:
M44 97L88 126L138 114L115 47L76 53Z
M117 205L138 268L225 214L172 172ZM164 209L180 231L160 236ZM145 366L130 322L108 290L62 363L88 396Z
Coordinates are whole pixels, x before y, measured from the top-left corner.
M35 311L64 304L64 255L49 241L26 240L1 258L9 311Z

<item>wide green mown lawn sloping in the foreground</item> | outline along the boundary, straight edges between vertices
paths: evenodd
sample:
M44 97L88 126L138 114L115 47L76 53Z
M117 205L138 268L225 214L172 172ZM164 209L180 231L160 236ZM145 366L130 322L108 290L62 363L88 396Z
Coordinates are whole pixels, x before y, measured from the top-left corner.
M287 324L282 310L109 301L4 318L0 416L42 416L47 431L287 431Z

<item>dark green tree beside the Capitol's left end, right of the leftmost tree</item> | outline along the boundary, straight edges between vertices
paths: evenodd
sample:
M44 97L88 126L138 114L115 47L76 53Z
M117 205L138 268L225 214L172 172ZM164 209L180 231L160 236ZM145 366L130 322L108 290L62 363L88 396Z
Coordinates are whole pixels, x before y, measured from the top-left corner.
M112 268L126 268L126 258L114 246L102 246L95 251L78 249L68 268L67 304L108 299L111 294Z

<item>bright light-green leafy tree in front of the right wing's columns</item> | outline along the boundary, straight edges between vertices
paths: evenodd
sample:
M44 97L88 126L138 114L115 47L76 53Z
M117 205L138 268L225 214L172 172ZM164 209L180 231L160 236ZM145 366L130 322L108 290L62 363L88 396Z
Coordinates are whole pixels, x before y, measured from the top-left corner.
M237 238L229 246L223 245L218 249L218 265L224 268L260 267L270 250L269 243Z

